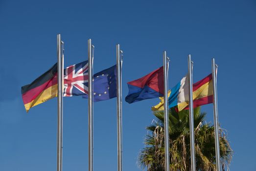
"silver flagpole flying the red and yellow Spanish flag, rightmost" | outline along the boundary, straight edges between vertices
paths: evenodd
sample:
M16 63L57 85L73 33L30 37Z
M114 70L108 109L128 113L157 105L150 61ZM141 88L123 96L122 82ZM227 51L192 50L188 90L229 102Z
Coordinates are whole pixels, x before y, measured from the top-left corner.
M216 169L220 171L220 144L219 144L219 119L218 119L218 99L217 99L217 65L215 59L211 59L211 74L213 85L213 112L214 112L214 134L215 134L215 153L216 153Z

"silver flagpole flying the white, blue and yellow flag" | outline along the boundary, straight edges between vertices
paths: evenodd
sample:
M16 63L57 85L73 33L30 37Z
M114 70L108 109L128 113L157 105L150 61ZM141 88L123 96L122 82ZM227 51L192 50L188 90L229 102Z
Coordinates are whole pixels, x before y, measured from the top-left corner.
M190 130L191 171L196 171L192 65L193 65L193 62L191 61L191 55L188 55L188 76L189 76L189 130Z

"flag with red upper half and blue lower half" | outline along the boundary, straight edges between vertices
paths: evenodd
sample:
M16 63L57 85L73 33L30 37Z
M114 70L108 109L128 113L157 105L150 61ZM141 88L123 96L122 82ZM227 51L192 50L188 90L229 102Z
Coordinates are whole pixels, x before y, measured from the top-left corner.
M128 82L129 93L125 97L128 103L139 102L163 96L163 66L146 76Z

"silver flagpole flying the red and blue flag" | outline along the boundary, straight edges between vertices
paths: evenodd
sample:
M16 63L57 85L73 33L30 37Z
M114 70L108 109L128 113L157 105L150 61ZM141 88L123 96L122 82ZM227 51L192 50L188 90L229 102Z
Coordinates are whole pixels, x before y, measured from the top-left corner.
M168 64L169 59L166 57L166 51L163 51L163 85L164 85L164 154L165 154L165 171L170 170L169 156L169 108L168 108Z

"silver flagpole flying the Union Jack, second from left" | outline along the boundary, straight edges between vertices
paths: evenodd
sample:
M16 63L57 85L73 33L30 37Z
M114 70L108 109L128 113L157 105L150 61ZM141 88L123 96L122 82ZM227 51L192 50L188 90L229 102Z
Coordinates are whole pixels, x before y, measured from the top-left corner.
M88 171L93 171L93 58L92 40L88 40Z

